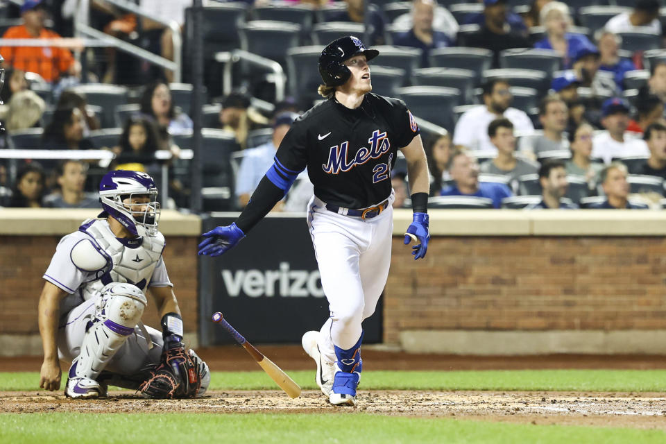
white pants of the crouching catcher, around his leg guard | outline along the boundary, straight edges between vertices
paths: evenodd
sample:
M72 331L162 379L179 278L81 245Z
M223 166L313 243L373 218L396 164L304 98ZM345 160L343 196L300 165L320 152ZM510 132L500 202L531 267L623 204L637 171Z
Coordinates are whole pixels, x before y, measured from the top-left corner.
M74 307L67 314L67 323L58 328L58 355L60 359L71 362L78 357L85 326L95 315L95 298L90 298ZM104 370L118 375L133 375L148 364L160 362L162 354L162 332L146 326L153 348L148 350L144 334L135 328L127 341L110 359Z

